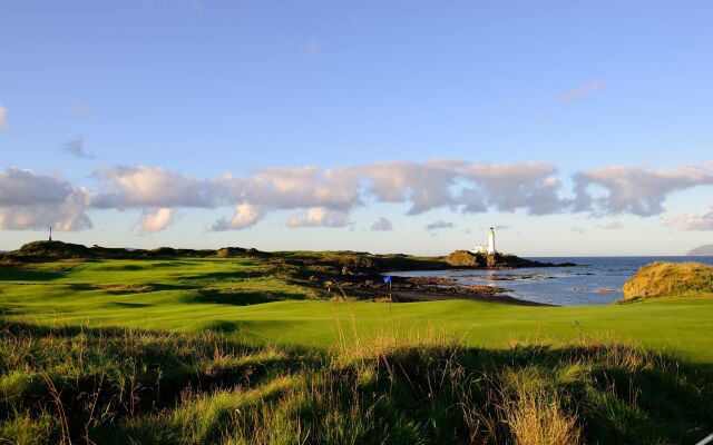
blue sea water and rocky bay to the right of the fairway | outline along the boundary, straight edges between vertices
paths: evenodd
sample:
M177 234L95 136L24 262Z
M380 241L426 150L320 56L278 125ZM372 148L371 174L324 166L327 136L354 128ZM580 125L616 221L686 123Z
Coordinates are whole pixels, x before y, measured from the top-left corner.
M624 298L622 286L639 267L653 261L699 261L713 257L538 257L541 263L574 263L576 267L536 267L509 270L397 271L403 277L452 277L462 285L511 289L504 295L559 306L606 305Z

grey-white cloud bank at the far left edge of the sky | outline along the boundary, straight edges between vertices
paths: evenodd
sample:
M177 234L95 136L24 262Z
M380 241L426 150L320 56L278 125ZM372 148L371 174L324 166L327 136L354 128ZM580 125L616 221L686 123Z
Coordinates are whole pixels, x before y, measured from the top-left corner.
M86 215L91 194L65 179L32 170L0 171L0 229L81 230L91 227Z

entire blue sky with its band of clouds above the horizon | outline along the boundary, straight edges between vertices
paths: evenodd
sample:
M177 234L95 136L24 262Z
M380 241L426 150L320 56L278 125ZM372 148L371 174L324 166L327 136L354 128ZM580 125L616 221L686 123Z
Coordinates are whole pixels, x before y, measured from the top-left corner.
M0 249L713 243L710 1L0 0Z

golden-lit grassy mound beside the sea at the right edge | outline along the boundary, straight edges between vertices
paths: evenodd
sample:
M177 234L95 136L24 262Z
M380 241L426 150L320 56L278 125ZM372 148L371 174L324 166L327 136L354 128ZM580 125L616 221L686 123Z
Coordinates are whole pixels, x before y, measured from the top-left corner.
M701 263L653 263L623 287L624 298L713 296L713 266Z

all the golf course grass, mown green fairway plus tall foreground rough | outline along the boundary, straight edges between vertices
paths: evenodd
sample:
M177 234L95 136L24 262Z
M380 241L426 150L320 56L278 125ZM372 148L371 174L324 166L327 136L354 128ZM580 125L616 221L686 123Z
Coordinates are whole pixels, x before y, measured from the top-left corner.
M336 301L311 270L0 266L0 443L663 444L713 428L712 298Z

